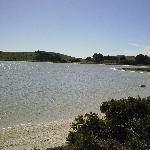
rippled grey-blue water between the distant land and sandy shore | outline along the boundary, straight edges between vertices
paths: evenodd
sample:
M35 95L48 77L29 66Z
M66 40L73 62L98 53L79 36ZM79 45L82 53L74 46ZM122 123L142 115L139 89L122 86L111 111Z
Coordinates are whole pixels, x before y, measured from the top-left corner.
M120 67L0 62L0 127L72 118L97 112L112 98L150 96L150 74Z

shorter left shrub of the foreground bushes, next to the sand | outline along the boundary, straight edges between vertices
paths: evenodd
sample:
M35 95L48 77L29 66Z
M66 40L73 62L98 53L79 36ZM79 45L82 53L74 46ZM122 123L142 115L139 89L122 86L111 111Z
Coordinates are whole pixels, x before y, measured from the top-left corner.
M72 123L67 141L78 150L99 150L118 147L120 143L110 139L109 126L98 114L90 113L78 116ZM117 146L116 146L117 145ZM121 146L119 146L120 148Z

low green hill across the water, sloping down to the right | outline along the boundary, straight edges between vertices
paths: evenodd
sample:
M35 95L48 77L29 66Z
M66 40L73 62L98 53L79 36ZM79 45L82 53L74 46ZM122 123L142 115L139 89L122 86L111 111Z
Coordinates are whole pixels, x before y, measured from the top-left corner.
M81 58L75 58L68 55L55 52L2 52L0 51L0 61L49 61L49 62L80 62Z

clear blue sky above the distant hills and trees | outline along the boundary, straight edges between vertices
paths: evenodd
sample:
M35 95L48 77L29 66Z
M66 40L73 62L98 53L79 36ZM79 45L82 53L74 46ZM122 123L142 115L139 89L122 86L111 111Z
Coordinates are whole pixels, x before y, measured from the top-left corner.
M0 50L150 56L150 0L0 0Z

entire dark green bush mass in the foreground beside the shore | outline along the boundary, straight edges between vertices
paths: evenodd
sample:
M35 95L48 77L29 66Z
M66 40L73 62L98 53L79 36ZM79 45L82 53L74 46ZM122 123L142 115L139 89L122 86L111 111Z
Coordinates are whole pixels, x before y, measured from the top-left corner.
M150 97L111 100L100 106L105 119L78 116L67 137L77 150L150 149Z

